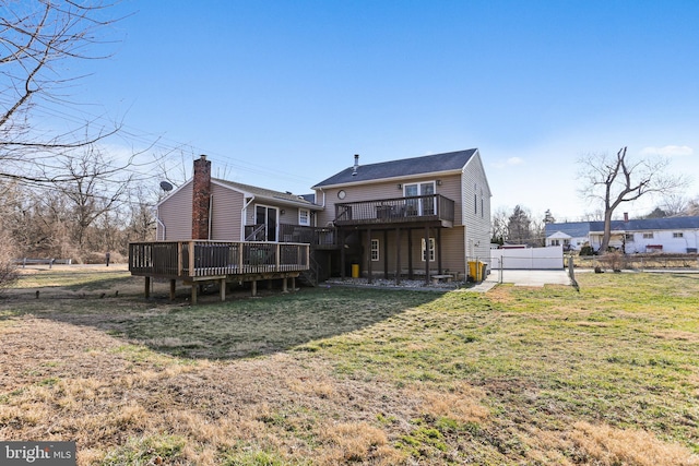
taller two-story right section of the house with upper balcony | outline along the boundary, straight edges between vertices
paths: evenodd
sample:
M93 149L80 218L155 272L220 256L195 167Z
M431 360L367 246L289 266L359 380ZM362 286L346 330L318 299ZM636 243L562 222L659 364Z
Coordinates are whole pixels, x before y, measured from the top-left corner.
M489 260L491 194L476 148L369 165L355 155L312 189L318 225L343 244L325 259L342 276L355 264L368 277L464 277L469 262Z

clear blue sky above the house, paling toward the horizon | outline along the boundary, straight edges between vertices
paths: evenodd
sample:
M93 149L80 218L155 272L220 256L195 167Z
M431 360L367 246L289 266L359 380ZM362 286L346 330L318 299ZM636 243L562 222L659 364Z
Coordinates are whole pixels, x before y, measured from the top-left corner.
M699 195L699 2L137 1L75 91L121 145L309 192L353 164L478 147L493 208L576 220L589 153L661 153ZM117 144L117 142L115 142ZM173 167L181 170L182 158ZM650 201L650 200L649 200ZM628 206L631 216L653 202ZM620 212L619 212L620 214Z

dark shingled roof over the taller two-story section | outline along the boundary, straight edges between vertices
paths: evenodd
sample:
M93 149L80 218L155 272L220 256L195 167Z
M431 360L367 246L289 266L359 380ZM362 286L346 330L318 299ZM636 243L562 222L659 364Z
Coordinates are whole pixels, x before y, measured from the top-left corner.
M340 171L339 174L333 175L327 180L319 182L312 189L365 181L375 181L387 178L457 171L463 169L466 163L477 151L477 148L470 148L467 151L449 152L445 154L425 155L423 157L403 158L400 160L359 165L357 167L356 174L354 174L354 167L348 167Z

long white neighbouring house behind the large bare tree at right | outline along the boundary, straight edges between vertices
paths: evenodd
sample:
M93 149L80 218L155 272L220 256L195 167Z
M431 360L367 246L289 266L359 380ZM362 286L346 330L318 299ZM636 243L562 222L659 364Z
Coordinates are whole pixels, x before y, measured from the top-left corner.
M546 244L559 244L580 250L584 244L600 249L604 222L576 222L546 225ZM567 238L570 237L570 238ZM609 247L626 253L637 252L697 252L699 217L645 218L612 222Z

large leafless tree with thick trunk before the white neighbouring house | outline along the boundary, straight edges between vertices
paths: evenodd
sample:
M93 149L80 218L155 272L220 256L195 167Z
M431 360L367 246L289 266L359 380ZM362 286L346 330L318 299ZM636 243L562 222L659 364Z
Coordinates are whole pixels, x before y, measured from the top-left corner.
M667 174L668 163L666 158L632 160L630 157L627 158L626 147L619 150L615 157L608 154L591 154L578 160L578 178L583 181L581 194L601 202L604 206L601 253L608 249L612 216L620 204L652 193L668 195L687 184L684 177Z

